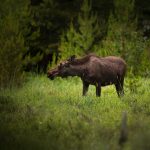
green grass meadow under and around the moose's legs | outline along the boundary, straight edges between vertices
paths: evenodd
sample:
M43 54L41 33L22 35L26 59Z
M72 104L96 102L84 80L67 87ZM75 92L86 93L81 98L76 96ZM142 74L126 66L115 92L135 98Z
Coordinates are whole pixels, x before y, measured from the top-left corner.
M82 97L78 78L29 76L17 89L0 91L0 149L117 150L122 112L127 112L127 150L150 149L150 79L139 78L136 93L126 79L125 96L114 86Z

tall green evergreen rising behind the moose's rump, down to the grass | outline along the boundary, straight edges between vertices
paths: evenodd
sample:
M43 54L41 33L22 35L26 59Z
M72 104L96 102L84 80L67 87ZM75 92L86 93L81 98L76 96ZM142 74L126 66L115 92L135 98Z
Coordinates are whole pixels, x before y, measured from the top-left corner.
M137 30L134 0L115 0L115 10L108 21L108 33L103 46L110 55L120 55L133 72L138 73L138 67L144 52L144 39ZM137 65L139 64L139 65Z

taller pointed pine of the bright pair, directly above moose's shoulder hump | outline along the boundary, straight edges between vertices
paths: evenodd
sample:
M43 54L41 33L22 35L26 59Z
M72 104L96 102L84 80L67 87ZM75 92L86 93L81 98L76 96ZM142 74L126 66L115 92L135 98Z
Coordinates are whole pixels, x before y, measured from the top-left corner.
M89 0L84 0L81 12L78 16L79 41L78 44L85 53L91 52L96 38L100 36L100 26L98 17L92 12L92 4Z

